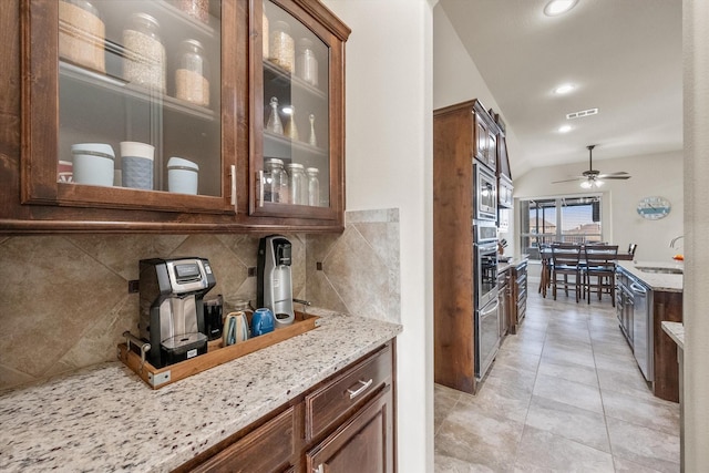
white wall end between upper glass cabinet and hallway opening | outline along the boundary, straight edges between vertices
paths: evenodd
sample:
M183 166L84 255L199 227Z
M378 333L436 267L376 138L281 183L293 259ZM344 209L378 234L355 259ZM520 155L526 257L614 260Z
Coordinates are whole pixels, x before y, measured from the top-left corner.
M346 49L347 209L398 207L399 471L433 471L432 7L427 0L326 0Z

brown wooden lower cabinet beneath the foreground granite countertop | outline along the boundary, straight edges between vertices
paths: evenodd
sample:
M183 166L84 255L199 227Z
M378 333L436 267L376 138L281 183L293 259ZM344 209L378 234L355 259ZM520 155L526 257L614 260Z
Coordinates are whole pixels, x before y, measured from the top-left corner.
M175 471L395 472L394 346L379 347Z

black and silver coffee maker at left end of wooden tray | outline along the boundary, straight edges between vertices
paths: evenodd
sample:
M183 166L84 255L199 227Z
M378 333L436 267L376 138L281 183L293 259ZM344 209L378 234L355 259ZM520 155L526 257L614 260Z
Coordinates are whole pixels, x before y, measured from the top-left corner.
M207 352L203 299L215 285L204 258L141 260L138 329L151 343L151 364L163 368Z

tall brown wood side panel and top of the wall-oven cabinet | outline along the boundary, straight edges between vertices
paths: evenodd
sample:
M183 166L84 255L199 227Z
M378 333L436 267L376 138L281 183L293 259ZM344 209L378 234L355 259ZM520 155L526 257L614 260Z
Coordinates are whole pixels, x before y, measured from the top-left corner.
M434 380L475 392L473 160L496 161L496 125L476 100L433 112Z

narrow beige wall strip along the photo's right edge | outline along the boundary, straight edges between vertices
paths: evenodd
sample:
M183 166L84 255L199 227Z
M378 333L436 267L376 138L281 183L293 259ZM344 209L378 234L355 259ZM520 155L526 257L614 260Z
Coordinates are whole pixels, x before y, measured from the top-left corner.
M685 471L709 467L709 2L682 2L685 107Z

